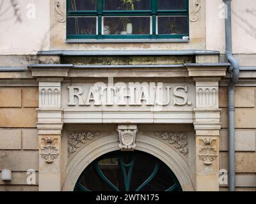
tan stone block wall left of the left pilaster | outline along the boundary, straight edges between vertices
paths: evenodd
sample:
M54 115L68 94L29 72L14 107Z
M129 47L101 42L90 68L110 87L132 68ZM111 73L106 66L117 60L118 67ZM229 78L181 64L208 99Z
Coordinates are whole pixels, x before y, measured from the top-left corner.
M0 191L38 191L38 87L0 87L0 178L12 169L12 181L0 179ZM28 185L27 171L36 172Z

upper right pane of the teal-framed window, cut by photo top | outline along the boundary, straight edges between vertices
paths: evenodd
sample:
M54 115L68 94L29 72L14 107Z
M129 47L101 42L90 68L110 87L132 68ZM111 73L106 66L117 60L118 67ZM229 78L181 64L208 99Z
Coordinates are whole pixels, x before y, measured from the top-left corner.
M159 0L159 10L184 10L185 0Z

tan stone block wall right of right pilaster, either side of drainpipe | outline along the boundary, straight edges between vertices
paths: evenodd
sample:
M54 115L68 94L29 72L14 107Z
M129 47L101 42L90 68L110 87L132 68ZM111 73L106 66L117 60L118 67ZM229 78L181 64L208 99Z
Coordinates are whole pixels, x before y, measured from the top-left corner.
M256 87L236 87L236 190L256 191ZM220 169L228 170L227 87L220 87ZM228 185L220 185L227 191Z

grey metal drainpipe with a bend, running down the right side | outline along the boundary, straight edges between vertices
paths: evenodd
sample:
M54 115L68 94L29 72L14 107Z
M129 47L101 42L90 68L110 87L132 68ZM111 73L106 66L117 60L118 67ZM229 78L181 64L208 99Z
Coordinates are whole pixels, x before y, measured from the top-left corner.
M235 161L235 121L234 121L234 96L236 82L239 79L240 67L232 54L232 31L231 31L231 0L223 0L226 4L227 16L225 18L226 57L231 64L232 75L228 84L228 136L229 136L229 191L236 191L236 161Z

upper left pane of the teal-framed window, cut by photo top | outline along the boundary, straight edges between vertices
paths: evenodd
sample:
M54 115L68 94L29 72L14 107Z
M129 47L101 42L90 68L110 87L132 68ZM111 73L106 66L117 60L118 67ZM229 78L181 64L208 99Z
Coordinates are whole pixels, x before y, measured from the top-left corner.
M96 10L97 0L70 0L69 10L70 11L92 11Z

